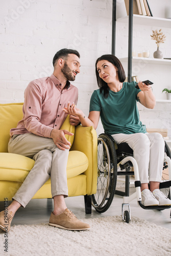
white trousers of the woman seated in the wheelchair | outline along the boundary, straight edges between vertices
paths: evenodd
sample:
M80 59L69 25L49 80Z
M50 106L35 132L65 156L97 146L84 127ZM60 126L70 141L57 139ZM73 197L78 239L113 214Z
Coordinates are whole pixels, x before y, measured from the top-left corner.
M141 183L161 182L164 139L159 133L114 134L116 143L126 142L134 151Z

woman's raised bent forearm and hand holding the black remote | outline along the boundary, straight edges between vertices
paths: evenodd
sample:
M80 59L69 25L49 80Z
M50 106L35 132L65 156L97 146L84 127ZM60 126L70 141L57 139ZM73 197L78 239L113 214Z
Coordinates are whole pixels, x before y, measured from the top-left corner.
M147 86L145 83L139 81L138 86L141 92L137 94L138 101L147 109L154 109L156 104L155 96L152 92L151 86Z

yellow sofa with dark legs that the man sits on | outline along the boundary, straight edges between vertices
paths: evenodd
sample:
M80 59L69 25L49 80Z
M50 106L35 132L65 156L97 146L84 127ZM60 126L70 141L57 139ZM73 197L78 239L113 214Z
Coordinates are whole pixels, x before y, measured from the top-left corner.
M34 166L28 157L8 153L10 129L23 117L23 103L0 104L0 201L12 200L17 189ZM67 139L72 143L67 163L69 196L83 195L86 213L91 213L91 195L97 188L97 135L93 127L72 126L69 116L61 129L74 133ZM67 136L67 135L66 135ZM27 145L26 145L27 146ZM37 191L33 199L51 198L50 179Z

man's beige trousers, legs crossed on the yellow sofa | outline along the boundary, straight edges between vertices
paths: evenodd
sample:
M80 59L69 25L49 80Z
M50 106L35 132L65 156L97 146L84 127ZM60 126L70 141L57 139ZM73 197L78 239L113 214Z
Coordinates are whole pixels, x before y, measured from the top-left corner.
M8 152L35 160L34 167L17 190L13 199L25 207L37 190L51 177L52 198L68 196L67 161L69 150L60 150L51 138L34 134L14 135L8 144Z

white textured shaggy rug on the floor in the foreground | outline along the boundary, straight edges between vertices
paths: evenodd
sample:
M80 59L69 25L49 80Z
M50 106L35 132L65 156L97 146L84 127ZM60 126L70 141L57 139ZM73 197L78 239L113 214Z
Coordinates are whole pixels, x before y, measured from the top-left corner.
M44 223L13 226L8 234L8 252L4 251L5 235L0 231L0 255L171 255L170 229L135 217L129 224L118 216L82 221L91 229L69 231Z

